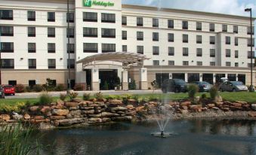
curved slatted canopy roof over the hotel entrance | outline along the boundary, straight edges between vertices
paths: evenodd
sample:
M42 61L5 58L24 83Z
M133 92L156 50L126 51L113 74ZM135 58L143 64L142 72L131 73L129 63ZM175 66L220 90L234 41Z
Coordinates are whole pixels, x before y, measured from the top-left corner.
M99 53L93 56L87 56L84 59L77 61L76 63L82 63L84 66L97 65L97 62L122 62L123 66L137 64L143 64L143 61L147 56L139 53L128 53L128 52L109 52L109 53Z

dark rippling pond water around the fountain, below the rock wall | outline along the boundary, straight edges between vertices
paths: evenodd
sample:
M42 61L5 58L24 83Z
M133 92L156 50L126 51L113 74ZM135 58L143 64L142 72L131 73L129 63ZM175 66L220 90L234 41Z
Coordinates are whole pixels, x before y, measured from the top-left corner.
M252 154L255 120L177 120L166 127L169 138L156 138L156 123L115 123L44 132L42 154Z

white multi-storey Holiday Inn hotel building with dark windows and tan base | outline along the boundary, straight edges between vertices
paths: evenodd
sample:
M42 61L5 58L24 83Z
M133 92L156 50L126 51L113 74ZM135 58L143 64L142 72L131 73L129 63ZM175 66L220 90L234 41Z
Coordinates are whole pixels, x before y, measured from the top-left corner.
M215 83L227 77L251 83L249 17L122 5L121 0L85 6L84 1L69 0L68 45L66 0L0 0L2 84L45 84L46 78L67 84L67 47L72 85L93 90L116 75L124 83L135 80L143 90L160 81L161 74L187 82ZM119 62L76 63L108 52L141 53L150 59L130 66L128 78Z

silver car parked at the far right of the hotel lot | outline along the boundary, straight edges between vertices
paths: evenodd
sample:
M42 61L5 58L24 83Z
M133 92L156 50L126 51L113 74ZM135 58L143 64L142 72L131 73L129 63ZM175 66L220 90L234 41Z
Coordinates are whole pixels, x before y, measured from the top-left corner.
M219 90L222 92L239 92L248 91L248 88L240 81L226 81L220 85Z

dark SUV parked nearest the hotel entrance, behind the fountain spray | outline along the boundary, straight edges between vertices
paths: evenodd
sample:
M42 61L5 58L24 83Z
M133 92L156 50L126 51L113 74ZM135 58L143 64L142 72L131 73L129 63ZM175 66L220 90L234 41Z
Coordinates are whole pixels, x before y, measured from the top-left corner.
M162 83L162 92L187 92L188 84L181 79L167 79Z

